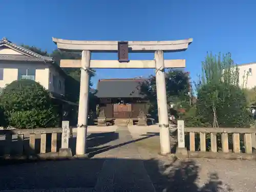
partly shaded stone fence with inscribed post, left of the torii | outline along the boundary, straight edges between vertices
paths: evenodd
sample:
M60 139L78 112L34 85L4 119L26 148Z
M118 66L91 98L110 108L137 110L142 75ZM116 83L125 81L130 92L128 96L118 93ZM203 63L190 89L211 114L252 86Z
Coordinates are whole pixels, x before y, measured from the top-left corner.
M62 121L62 128L0 130L0 156L2 159L72 157L71 134L69 121Z

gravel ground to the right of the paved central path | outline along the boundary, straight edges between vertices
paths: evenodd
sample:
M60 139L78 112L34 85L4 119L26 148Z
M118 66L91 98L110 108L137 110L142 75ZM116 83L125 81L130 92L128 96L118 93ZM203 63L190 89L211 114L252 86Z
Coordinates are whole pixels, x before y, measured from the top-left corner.
M144 165L156 191L256 191L255 161L184 159L172 163L172 158L158 155L159 139L137 143L142 157L148 159Z

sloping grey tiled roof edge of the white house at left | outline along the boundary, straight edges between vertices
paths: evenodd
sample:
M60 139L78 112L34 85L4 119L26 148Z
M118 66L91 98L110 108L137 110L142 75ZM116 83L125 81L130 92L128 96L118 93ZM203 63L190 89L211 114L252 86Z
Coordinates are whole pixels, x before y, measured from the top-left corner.
M21 52L24 55L26 55L27 57L33 57L33 58L41 59L42 61L46 61L46 62L53 61L52 57L42 56L42 55L39 55L39 54L37 54L37 53L35 53L35 52L33 52L29 49L26 49L22 46L17 46L15 44L13 44L11 41L9 41L6 37L3 37L2 40L0 40L0 47L3 47L3 46L6 46L6 47L9 47L9 48L11 48L13 50L16 50L18 52ZM18 57L20 55L13 55L13 56ZM21 57L19 59L21 59ZM24 58L24 59L26 59L26 58ZM9 57L9 60L10 60L10 57ZM37 61L39 61L39 60L37 60Z

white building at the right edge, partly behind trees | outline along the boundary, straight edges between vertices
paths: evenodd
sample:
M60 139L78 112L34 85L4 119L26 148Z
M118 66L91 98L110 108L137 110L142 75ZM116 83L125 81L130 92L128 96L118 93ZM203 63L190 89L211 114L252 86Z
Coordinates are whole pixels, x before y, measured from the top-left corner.
M256 86L256 62L238 65L241 88L251 89Z

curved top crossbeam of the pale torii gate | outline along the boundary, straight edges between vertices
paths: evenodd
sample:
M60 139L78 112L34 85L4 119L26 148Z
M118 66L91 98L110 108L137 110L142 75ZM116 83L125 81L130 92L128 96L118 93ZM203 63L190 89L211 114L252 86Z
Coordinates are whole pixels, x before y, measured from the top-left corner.
M118 50L118 41L101 40L66 40L52 37L58 49L63 51L89 50L91 52L114 52ZM164 52L185 51L193 38L172 41L129 41L129 52L151 53L156 50Z

